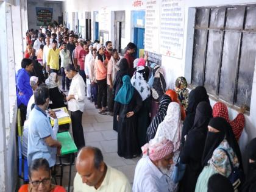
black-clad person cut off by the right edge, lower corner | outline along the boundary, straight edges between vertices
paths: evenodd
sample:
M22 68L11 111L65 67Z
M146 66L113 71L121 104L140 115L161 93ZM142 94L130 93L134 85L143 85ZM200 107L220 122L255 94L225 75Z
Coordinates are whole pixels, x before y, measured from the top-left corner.
M249 165L242 191L254 192L256 191L256 138L246 146L246 159Z

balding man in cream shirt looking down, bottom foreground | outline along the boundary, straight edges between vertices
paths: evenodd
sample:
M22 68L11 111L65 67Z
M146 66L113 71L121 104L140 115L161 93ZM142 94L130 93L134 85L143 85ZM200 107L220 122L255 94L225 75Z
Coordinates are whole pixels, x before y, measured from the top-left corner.
M74 192L130 192L129 180L117 169L107 166L98 148L80 149L76 160L77 174L74 178Z

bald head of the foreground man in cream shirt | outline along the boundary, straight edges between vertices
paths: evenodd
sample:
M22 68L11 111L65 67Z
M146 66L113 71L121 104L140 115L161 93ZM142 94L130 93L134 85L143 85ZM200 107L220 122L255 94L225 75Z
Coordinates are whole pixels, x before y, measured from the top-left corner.
M83 183L89 186L97 185L104 174L104 167L101 150L90 146L80 149L77 155L76 169L82 177Z

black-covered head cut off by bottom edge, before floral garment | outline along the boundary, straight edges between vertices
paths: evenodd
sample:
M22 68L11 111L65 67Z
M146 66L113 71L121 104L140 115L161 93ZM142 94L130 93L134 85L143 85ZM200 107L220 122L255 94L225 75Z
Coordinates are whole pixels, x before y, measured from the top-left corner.
M234 192L234 188L227 177L216 173L208 180L207 192Z

